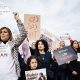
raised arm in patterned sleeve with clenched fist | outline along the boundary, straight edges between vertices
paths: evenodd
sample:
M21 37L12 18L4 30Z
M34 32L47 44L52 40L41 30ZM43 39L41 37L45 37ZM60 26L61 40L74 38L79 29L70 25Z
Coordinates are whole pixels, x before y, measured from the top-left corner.
M25 30L25 27L24 27L23 23L19 19L19 14L18 13L13 13L13 14L14 14L14 18L15 18L15 20L17 22L17 27L18 27L19 32L20 32L19 36L17 36L17 38L14 41L15 41L15 44L17 46L20 46L20 44L27 37L27 31Z

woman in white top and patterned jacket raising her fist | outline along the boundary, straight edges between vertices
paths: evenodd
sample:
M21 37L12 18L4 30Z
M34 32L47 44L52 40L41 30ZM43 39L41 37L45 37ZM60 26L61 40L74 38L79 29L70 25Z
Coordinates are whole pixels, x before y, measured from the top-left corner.
M20 77L20 65L15 47L19 47L25 39L26 31L23 23L19 19L19 14L13 14L20 35L14 40L9 28L2 27L0 29L0 80L18 80L18 77Z

